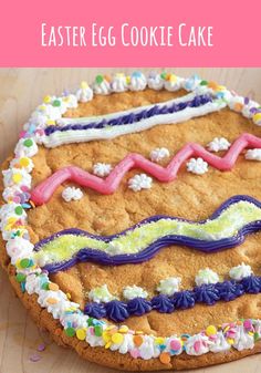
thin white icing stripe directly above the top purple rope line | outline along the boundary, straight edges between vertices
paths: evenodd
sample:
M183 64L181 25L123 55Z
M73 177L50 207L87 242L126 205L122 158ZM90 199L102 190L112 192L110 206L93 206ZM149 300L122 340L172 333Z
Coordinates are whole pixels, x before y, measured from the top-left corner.
M76 117L76 118L75 117L73 117L73 118L62 117L61 120L58 120L56 123L59 125L65 126L67 124L75 124L75 123L81 123L82 125L84 125L84 124L90 124L92 122L97 122L97 121L102 121L102 120L114 120L114 118L117 118L117 117L123 116L123 115L136 114L136 113L139 113L139 112L144 111L144 110L147 111L149 108L153 108L156 105L158 107L163 107L163 106L169 107L174 104L179 104L180 102L191 101L196 96L197 96L196 93L189 93L189 94L186 94L185 96L181 96L181 97L173 99L173 100L169 100L169 101L164 101L164 102L152 104L152 105L138 106L138 107L134 107L134 108L129 108L129 110L125 110L125 111L116 112L116 113L109 113L109 114L97 115L97 116Z

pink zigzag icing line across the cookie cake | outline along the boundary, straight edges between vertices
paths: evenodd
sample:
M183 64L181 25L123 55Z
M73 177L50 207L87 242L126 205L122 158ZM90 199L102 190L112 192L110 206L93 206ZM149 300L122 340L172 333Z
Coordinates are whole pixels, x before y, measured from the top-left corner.
M213 155L199 144L188 143L173 157L167 167L161 167L146 159L140 154L130 153L115 166L105 179L76 166L69 166L59 169L44 182L40 183L32 190L31 200L36 206L43 205L52 197L55 189L66 180L92 188L101 194L109 195L117 189L124 175L134 167L143 169L159 182L173 182L182 163L192 156L200 156L209 165L220 170L230 170L236 164L239 154L247 147L261 148L261 138L248 133L242 134L234 141L223 157Z

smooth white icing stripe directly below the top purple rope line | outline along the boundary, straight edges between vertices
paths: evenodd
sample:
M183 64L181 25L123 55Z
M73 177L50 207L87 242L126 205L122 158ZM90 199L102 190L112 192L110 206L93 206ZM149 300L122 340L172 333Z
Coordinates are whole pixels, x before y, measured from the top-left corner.
M160 114L153 117L126 125L118 125L107 128L88 128L88 129L69 129L66 132L56 131L51 135L42 136L38 139L39 144L46 147L56 147L64 144L91 142L94 139L108 139L117 136L142 132L159 124L177 124L189 121L197 116L217 112L227 104L225 102L215 101L199 107L187 107L181 112L173 114Z

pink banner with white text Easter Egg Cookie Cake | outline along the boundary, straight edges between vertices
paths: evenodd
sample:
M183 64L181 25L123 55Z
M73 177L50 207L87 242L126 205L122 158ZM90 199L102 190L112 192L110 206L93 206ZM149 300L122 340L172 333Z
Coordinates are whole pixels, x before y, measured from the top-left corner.
M1 66L261 66L260 0L2 3Z

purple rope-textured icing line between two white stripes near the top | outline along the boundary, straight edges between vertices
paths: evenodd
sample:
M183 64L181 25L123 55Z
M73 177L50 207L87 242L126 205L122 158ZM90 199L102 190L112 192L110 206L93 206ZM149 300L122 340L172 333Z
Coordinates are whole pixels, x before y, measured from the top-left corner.
M118 126L118 125L126 125L126 124L132 124L134 122L139 122L142 120L149 118L155 115L164 115L164 114L171 114L171 113L177 113L186 107L198 107L201 105L205 105L209 102L212 102L212 96L210 94L202 94L195 96L192 100L187 101L187 102L179 102L179 103L174 103L170 106L164 105L164 106L158 106L157 104L150 108L144 108L140 110L140 112L137 113L129 113L129 114L123 114L116 118L104 118L100 120L98 122L92 122L88 124L69 124L66 126L55 126L55 125L50 125L44 129L45 135L51 135L54 132L66 132L70 129L88 129L88 128L104 128L106 126Z

